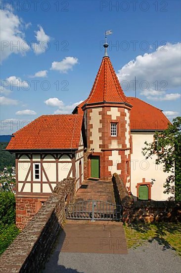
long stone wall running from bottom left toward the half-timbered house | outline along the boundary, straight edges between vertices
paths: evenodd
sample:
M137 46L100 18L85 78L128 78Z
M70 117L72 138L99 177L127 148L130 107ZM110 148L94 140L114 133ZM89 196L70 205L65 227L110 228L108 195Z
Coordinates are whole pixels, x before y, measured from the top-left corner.
M57 184L42 208L0 256L0 272L40 272L65 220L65 204L74 201L75 185L73 178Z

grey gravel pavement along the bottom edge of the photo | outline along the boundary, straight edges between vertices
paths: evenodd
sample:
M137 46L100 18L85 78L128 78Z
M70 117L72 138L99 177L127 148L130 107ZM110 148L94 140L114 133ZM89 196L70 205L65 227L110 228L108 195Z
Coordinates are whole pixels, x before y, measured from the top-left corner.
M43 273L180 273L181 257L158 242L147 242L129 253L62 253L55 250Z

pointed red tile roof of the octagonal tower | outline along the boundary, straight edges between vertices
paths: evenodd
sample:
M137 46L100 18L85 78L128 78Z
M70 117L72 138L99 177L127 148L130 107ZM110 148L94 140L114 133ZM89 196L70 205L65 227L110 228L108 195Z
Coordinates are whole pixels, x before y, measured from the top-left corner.
M127 102L109 57L103 57L87 103Z

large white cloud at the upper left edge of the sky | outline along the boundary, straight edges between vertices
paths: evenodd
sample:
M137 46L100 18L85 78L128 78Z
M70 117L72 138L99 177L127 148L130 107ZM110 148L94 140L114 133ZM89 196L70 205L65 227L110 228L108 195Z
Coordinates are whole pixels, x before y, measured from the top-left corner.
M23 21L10 9L0 9L0 60L8 58L12 53L25 55L30 50L24 40Z

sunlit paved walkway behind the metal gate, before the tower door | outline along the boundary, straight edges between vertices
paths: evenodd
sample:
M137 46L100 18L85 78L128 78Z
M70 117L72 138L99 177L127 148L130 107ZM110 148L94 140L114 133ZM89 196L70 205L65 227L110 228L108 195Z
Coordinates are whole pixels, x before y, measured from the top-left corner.
M76 202L84 200L101 200L115 204L112 181L85 180L76 194Z

